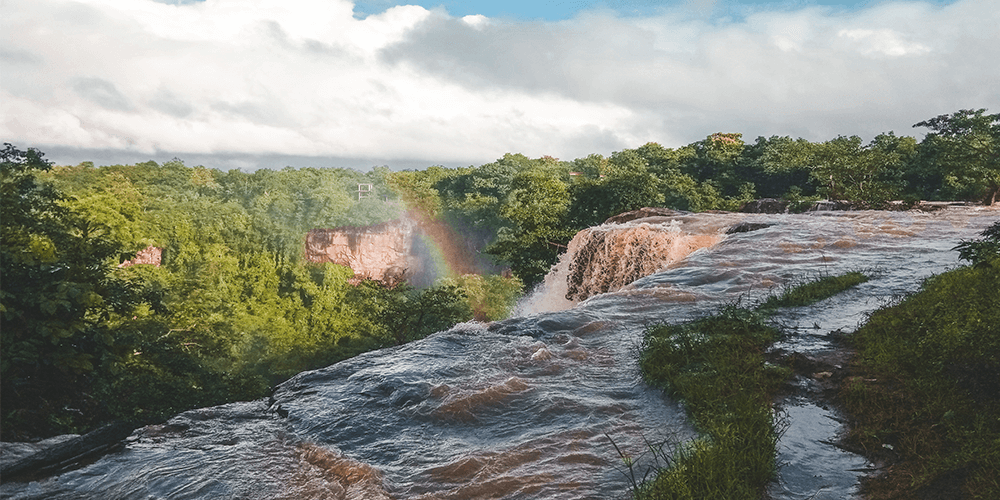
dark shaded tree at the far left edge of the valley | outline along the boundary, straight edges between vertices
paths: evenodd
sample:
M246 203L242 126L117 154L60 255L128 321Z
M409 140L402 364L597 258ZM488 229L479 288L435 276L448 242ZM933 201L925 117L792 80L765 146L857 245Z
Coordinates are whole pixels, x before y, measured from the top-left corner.
M28 421L40 432L72 427L67 405L84 398L85 374L115 343L108 319L140 305L157 309L141 282L113 274L126 254L93 231L38 174L44 155L5 144L0 152L0 377L4 427ZM74 403L74 405L77 403Z

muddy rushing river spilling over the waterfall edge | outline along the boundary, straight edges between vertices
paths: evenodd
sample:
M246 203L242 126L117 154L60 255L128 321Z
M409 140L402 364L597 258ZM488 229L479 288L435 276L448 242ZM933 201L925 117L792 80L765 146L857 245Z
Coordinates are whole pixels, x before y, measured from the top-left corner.
M630 478L612 440L623 453L640 457L634 472L641 478L647 442L691 436L682 408L642 382L637 354L647 326L691 319L741 297L752 301L773 287L820 273L879 270L854 291L785 313L786 324L802 328L782 347L821 349L829 331L853 328L885 300L956 265L951 248L998 218L995 209L948 208L682 214L624 226L636 230L633 239L665 238L660 246L596 229L588 238L600 233L603 246L590 244L587 259L607 261L600 269L655 258L660 259L655 267L665 269L620 290L571 302L565 299L567 276L576 276L578 289L598 279L571 262L573 252L589 243L571 244L570 255L519 317L457 325L301 373L268 400L185 412L137 430L123 450L94 463L38 482L4 484L0 494L17 499L626 497ZM770 226L725 235L740 222ZM676 252L667 259L651 255L661 247ZM611 262L616 248L626 255L618 263ZM816 414L807 404L798 405L788 412L793 424L802 412L808 419ZM790 430L792 437L826 432L808 426ZM830 466L827 455L795 443L783 450L783 459L795 463L784 469L788 479L776 496L798 498L799 490L825 488L798 485L794 478ZM843 467L858 460L846 457ZM845 483L836 491L849 491L854 476L830 481Z

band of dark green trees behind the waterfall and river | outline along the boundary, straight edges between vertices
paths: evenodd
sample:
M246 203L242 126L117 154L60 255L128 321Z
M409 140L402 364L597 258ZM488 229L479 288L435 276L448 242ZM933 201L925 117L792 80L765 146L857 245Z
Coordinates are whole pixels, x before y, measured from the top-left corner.
M803 209L825 198L857 208L918 200L994 203L1000 194L1000 114L962 110L920 122L913 137L881 134L825 142L712 134L677 149L649 143L573 161L519 154L460 169L393 174L414 206L443 214L527 286L538 283L577 231L642 207L737 210L781 198Z

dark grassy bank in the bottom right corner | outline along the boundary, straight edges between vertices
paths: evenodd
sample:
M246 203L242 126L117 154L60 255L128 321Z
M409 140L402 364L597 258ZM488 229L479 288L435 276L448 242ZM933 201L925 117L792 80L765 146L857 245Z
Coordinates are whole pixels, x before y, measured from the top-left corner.
M952 477L949 497L1000 496L1000 270L964 267L928 279L872 314L852 340L842 400L853 444L901 459L866 484L868 498L916 496ZM956 475L957 474L957 475Z

